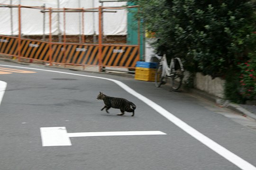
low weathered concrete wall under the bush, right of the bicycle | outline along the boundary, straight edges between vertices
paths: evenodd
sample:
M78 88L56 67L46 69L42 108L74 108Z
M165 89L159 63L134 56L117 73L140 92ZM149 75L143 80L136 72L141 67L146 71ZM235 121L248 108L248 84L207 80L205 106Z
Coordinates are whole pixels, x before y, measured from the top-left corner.
M217 77L212 79L211 76L203 76L201 73L196 73L194 78L194 88L210 93L217 97L224 97L225 80Z

